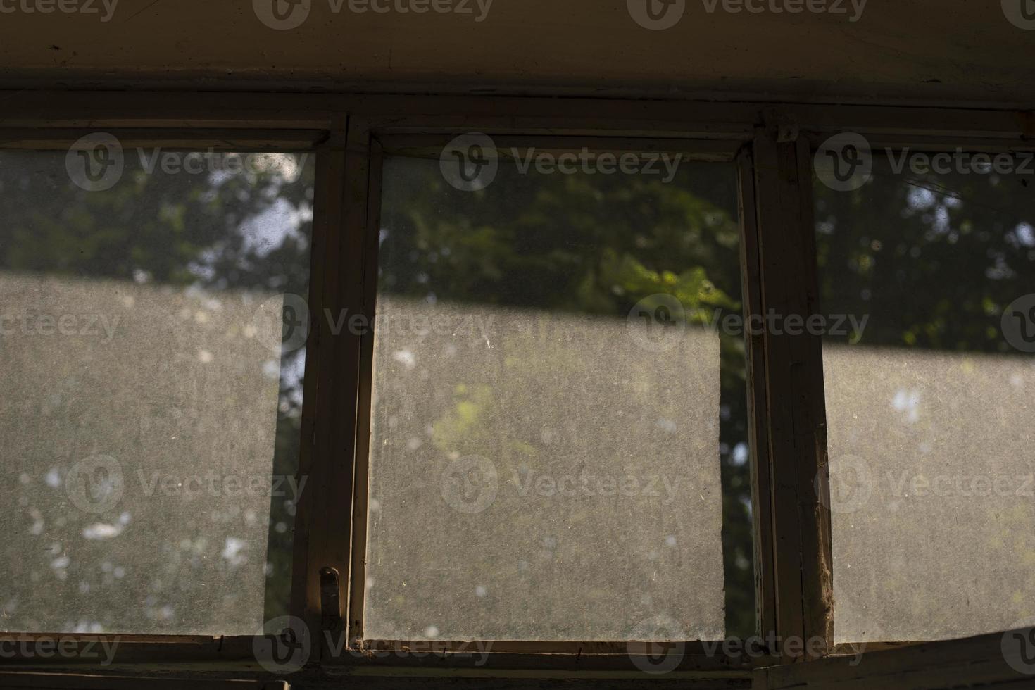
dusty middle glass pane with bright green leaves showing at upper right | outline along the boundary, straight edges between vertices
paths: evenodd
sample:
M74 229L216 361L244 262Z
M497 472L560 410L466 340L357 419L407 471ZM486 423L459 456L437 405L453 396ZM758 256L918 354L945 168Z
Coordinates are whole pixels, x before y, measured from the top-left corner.
M364 636L755 630L735 171L384 171Z

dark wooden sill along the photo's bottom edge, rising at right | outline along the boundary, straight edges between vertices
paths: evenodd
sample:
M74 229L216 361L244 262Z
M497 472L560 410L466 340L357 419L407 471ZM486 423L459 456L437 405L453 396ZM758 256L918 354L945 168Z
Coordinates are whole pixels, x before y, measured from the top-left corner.
M155 663L113 664L107 668L75 664L8 665L0 669L4 688L139 688L271 687L288 682L292 688L362 687L388 688L690 688L715 690L942 690L989 688L1014 690L1031 688L1035 677L1012 668L1003 656L1002 634L967 639L910 644L893 650L858 649L861 655L831 656L793 665L770 666L752 671L683 671L648 677L627 667L594 668L583 658L528 658L508 668L460 666L455 660L437 655L424 663L400 657L384 664L350 666L309 665L295 673L277 676L252 663ZM229 684L228 682L237 684ZM248 684L248 685L245 685ZM273 686L276 687L276 686ZM283 686L282 686L283 687Z

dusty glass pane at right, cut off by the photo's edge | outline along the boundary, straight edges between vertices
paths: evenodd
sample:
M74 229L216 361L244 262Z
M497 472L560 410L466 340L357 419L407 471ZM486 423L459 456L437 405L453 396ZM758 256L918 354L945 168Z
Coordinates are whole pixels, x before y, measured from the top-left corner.
M816 185L824 310L868 319L824 348L838 641L1035 614L1035 180L899 155Z

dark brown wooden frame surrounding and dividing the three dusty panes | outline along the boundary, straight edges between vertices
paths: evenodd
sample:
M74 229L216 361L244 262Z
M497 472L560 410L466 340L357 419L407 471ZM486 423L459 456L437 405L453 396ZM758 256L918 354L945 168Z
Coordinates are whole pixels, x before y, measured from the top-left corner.
M811 156L826 137L849 130L881 146L1031 150L1035 114L534 96L0 91L0 148L61 149L83 134L108 131L130 146L315 151L310 309L348 309L371 323L384 151L426 148L468 131L557 147L573 142L598 148L676 147L703 160L735 161L745 310L817 313ZM351 643L361 626L373 337L347 332L332 337L323 322L314 322L304 374L299 474L309 477L315 490L297 506L291 613L308 630L344 632ZM829 494L822 344L819 336L766 333L748 338L747 354L760 634L817 638L822 650L815 656L835 657L853 648L834 644L830 513L818 496ZM321 581L321 571L328 568L337 573L336 593L327 592L328 580ZM246 665L253 643L248 636L17 637L80 644L115 637L121 642L117 665L130 668L176 661ZM625 642L498 642L479 668L463 647L434 657L384 658L377 647L335 655L322 634L313 642L312 662L330 673L534 670L569 678L586 672L643 678ZM398 652L403 643L385 644ZM704 642L687 642L678 669L663 678L691 684L723 679L732 684L728 687L741 687L753 669L801 659L731 657L709 653ZM61 663L67 662L48 665Z

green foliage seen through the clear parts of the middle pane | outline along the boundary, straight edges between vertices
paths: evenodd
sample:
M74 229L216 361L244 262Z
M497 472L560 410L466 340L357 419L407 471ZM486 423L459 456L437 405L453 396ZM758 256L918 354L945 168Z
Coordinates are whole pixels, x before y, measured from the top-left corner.
M710 327L741 311L736 208L736 176L723 166L684 163L666 184L647 176L521 175L504 163L490 187L466 192L445 183L437 162L389 158L381 290L623 321L641 300L671 295L690 327ZM721 334L720 342L716 451L727 632L747 636L755 633L756 613L744 341ZM551 356L565 356L559 352ZM536 380L529 366L522 363L523 380ZM570 365L572 372L581 368ZM490 438L493 430L483 420L498 414L498 394L487 386L461 387L454 399L452 411L434 425L443 452L462 440ZM491 573L494 565L475 567Z

